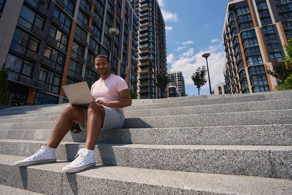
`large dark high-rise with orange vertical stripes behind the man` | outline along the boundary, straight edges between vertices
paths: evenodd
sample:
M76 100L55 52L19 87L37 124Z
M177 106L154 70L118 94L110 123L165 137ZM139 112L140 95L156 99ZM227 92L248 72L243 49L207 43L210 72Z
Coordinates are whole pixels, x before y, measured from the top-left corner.
M13 70L9 105L68 102L62 86L91 86L99 54L136 91L138 18L128 0L1 0L0 11L0 66Z

